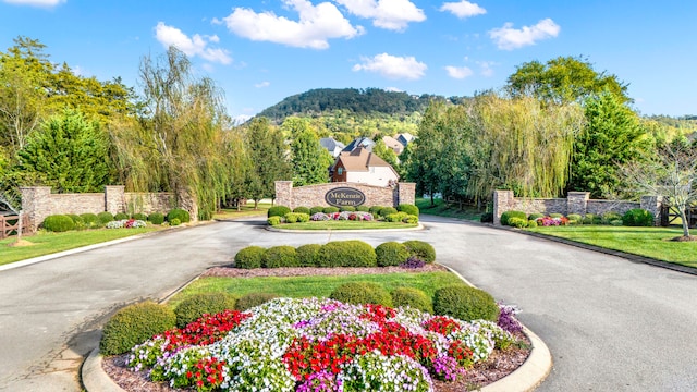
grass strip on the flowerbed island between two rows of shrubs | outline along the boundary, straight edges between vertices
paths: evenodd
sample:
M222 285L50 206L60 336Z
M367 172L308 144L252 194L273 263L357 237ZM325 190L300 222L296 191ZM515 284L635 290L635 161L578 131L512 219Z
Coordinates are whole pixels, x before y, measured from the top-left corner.
M380 274L354 274L339 277L262 277L262 278L201 278L186 286L170 299L176 304L193 294L227 292L235 297L249 293L274 293L288 297L328 297L340 284L346 282L375 282L388 291L396 287L416 287L432 296L437 289L451 284L465 284L454 273L398 272Z

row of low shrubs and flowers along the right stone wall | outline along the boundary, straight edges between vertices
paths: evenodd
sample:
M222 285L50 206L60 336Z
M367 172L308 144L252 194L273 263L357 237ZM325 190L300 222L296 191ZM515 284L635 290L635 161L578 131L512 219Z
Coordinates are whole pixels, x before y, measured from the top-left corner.
M655 216L650 211L641 208L635 208L626 211L624 215L619 212L604 212L602 215L587 213L580 216L578 213L570 213L564 217L561 213L530 213L523 211L505 211L501 215L501 224L513 228L537 228L540 225L568 225L568 224L609 224L609 225L626 225L626 226L652 226Z

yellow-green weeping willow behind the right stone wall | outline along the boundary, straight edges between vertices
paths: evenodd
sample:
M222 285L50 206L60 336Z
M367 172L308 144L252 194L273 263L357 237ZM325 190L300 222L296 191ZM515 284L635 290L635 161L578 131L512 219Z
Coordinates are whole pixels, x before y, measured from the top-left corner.
M476 97L468 192L488 198L497 188L519 196L555 197L570 177L575 136L584 124L577 105L540 105L530 97Z

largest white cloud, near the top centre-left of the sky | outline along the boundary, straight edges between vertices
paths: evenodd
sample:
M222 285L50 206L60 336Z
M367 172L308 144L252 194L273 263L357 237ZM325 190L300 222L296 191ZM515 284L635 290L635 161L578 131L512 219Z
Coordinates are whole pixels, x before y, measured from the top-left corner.
M353 38L364 33L363 27L352 26L332 3L313 5L307 0L283 0L283 3L297 11L298 21L246 8L235 8L223 21L239 36L297 48L327 49L329 38Z

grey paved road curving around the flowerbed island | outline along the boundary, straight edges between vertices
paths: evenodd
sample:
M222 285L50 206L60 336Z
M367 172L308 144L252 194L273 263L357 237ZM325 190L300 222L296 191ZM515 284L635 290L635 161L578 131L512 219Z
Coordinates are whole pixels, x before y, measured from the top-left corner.
M509 231L423 217L427 230L286 234L260 220L170 231L0 271L0 390L80 391L113 309L162 298L247 245L424 240L549 346L538 391L697 391L697 277Z

